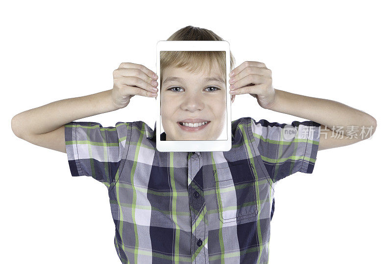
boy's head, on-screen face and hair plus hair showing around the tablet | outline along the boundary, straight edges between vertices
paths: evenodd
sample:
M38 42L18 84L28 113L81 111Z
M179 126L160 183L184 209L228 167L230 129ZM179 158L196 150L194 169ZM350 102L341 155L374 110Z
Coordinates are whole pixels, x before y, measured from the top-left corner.
M192 26L178 30L168 39L184 40L222 41L212 31ZM227 119L225 52L161 51L160 57L161 116L166 140L216 140ZM234 57L230 53L230 70L233 68ZM234 97L231 96L231 102ZM201 120L186 120L196 118ZM202 120L207 124L199 124Z

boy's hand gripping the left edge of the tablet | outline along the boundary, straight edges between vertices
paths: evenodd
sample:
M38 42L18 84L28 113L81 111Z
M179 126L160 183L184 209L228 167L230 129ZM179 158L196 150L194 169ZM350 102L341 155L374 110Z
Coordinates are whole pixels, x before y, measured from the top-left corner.
M158 76L146 66L122 63L113 71L112 97L116 107L124 108L134 95L156 97ZM154 90L156 89L156 90Z

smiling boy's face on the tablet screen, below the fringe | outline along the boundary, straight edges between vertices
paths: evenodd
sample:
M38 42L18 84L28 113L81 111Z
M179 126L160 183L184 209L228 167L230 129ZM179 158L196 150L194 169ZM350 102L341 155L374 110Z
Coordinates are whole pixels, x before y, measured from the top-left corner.
M162 80L161 116L166 140L216 140L227 118L226 83L218 66L198 73L168 67Z

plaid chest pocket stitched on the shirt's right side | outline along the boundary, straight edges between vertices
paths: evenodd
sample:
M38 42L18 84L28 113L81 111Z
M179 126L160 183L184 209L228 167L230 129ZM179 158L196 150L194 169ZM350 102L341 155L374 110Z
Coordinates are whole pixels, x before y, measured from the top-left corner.
M257 218L256 184L252 164L214 170L215 196L221 222L248 222Z

